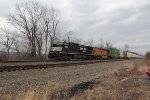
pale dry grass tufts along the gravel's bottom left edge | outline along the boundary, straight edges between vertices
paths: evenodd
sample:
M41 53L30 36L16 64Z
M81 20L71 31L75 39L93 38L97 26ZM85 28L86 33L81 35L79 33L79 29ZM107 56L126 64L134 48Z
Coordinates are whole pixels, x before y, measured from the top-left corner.
M61 84L57 82L48 82L42 86L28 86L25 92L3 93L0 100L49 100L51 92L61 88Z

